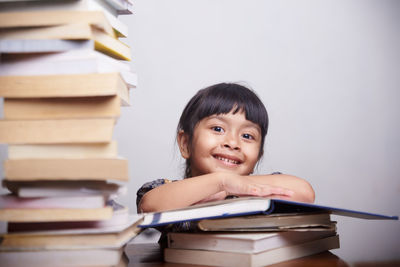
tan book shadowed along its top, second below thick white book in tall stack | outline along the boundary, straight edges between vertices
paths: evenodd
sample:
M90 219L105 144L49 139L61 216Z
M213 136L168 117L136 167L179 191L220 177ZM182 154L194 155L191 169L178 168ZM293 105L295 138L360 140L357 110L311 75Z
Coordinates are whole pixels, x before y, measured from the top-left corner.
M118 96L62 98L5 98L7 120L115 118L121 114Z

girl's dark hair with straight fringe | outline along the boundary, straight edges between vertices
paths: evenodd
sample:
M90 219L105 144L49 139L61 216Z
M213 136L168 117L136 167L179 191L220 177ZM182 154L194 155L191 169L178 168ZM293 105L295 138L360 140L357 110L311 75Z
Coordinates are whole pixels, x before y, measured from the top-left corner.
M260 159L264 153L264 141L268 131L268 113L258 96L245 86L235 83L219 83L201 89L187 103L179 119L177 133L183 130L192 143L194 128L202 119L218 114L244 111L247 120L261 129ZM190 160L186 160L185 178L191 177Z

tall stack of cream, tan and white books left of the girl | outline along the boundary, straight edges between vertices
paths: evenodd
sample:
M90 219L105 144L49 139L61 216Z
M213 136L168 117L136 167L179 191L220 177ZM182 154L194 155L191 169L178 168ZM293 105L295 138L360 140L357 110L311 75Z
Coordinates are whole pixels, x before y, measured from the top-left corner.
M116 264L140 231L113 201L129 180L113 129L136 86L120 14L130 0L0 1L2 264Z

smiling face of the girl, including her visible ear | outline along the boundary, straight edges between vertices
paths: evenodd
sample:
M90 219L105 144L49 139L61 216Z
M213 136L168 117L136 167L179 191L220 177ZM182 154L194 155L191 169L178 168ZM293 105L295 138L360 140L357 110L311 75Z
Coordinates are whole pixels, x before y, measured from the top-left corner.
M181 133L182 156L190 159L192 176L225 171L249 175L258 161L260 127L243 112L212 115L195 127L192 145Z

